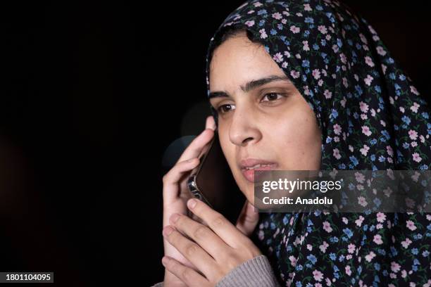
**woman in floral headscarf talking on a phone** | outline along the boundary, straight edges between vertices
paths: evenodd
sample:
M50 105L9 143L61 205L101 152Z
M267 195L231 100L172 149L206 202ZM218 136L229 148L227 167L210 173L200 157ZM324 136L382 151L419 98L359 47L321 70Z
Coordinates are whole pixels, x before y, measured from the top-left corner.
M220 144L250 203L249 158L274 170L430 168L427 103L373 27L338 1L245 2L211 39L206 73ZM431 286L425 213L244 208L235 228L199 200L191 208L184 175L212 136L163 178L165 286Z

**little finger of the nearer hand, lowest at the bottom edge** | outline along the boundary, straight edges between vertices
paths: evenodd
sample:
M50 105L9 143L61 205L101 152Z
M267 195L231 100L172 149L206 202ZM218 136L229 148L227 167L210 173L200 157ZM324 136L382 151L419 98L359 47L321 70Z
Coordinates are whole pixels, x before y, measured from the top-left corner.
M210 286L210 282L204 276L173 258L168 256L163 257L162 264L166 269L168 269L168 271L172 272L189 287Z

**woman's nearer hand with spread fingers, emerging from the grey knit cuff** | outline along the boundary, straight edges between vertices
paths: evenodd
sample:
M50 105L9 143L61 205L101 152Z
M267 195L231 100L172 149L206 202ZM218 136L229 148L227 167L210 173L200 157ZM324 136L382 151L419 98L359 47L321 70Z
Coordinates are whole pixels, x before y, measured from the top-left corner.
M239 264L261 255L247 237L258 222L258 213L247 201L237 227L201 200L190 199L187 207L207 225L176 213L170 216L171 226L163 229L163 236L196 268L170 256L162 260L165 268L187 286L215 286Z

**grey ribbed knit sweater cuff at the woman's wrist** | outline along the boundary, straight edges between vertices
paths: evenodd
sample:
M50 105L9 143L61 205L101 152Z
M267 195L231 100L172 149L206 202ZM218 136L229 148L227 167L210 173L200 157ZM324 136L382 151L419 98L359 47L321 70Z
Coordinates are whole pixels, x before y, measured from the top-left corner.
M151 287L163 286L163 282L156 283ZM215 287L280 287L268 258L258 255L226 274Z

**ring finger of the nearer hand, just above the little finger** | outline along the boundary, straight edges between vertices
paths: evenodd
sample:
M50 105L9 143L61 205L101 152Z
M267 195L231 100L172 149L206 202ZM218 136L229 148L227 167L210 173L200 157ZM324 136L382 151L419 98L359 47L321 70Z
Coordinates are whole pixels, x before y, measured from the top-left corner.
M199 271L207 277L212 277L218 269L215 260L198 244L190 241L172 226L163 229L163 236L166 240L177 248L192 264L199 267ZM213 279L213 278L208 278Z

